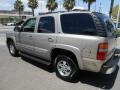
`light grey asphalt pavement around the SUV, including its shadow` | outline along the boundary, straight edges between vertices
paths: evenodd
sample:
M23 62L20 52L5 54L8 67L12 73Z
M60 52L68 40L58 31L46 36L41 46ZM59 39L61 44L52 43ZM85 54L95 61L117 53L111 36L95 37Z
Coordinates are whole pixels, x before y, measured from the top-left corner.
M6 32L12 28L0 28L0 90L119 90L120 71L102 75L82 71L73 83L56 77L46 65L21 58L12 57L5 43ZM118 47L119 47L118 40Z

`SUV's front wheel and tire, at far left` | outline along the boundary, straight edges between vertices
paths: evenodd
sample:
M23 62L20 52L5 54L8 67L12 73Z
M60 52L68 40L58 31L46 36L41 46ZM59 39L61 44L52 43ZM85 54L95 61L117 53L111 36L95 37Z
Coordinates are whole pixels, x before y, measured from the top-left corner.
M7 45L8 45L9 53L10 53L13 57L18 57L18 56L19 56L18 50L16 49L15 44L13 43L13 41L9 41L9 42L7 43Z

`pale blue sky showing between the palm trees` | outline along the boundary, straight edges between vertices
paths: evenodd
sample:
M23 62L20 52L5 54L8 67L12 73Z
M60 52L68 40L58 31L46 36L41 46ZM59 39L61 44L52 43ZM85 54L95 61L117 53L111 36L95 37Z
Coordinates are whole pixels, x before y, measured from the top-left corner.
M24 3L25 11L31 11L30 8L27 7L28 0L21 0ZM39 7L35 10L36 15L39 12L47 12L46 8L46 2L47 0L38 0L39 1ZM56 0L58 2L58 8L57 10L64 10L62 4L63 0ZM76 5L82 7L84 9L87 9L87 4L83 3L82 0L75 0ZM93 3L91 6L92 11L101 11L105 14L108 14L109 8L110 8L110 1L111 0L96 0L96 3ZM0 10L13 10L14 9L14 2L15 0L0 0ZM119 4L120 0L115 0L114 6ZM101 9L100 9L101 7Z

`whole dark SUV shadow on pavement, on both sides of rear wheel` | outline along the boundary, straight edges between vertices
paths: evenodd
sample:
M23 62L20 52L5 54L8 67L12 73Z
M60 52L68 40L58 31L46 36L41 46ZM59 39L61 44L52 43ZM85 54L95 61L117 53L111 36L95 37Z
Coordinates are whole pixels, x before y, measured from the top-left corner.
M54 70L51 66L46 66L44 64L38 63L34 60L27 59L25 57L22 57L22 60L24 60L34 66L37 66L40 69L46 70L50 73L54 72ZM80 71L79 77L76 80L74 80L72 83L81 82L81 83L88 84L88 85L91 85L94 87L108 90L114 86L118 71L119 71L119 66L117 66L116 71L110 75L105 75L105 74L100 74L100 73L92 73L92 72L88 72L88 71Z

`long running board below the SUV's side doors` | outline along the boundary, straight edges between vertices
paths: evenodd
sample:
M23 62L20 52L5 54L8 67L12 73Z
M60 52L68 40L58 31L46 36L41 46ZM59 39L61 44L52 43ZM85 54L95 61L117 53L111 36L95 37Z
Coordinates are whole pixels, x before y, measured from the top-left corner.
M21 56L23 56L23 57L26 57L26 58L28 58L28 59L35 60L35 61L37 61L37 62L40 62L40 63L45 64L45 65L48 65L48 66L51 64L49 61L46 61L46 60L44 60L44 59L40 59L40 58L31 56L31 55L25 54L25 53L23 53L23 52L20 52L19 54L20 54Z

